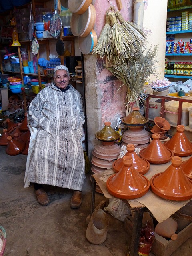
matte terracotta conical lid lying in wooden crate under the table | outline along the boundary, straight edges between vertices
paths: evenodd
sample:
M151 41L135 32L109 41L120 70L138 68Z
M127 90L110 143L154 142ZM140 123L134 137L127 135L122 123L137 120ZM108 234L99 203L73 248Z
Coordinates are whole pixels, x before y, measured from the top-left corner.
M177 222L172 218L167 218L161 223L158 223L155 227L155 232L164 238L171 238L171 240L177 239L177 234L175 233L177 230Z

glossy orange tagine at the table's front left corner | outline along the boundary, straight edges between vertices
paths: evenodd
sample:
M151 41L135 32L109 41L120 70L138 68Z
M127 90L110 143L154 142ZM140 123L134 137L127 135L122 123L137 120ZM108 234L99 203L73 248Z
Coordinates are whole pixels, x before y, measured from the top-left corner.
M149 180L132 166L132 156L123 157L123 166L117 174L107 180L107 190L121 199L134 199L144 196L149 190Z

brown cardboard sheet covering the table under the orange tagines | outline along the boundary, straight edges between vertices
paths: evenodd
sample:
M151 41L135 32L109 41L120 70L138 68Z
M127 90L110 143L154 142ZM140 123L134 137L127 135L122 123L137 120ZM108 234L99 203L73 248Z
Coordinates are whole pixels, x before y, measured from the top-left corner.
M182 157L182 160L186 161L190 157L191 156ZM154 174L164 172L164 170L166 170L168 166L170 166L170 164L171 162L168 162L166 164L150 164L150 170L144 176L146 176L150 180L150 178ZM109 173L109 171L111 172ZM113 196L107 190L106 181L104 181L104 180L107 180L107 178L112 174L113 174L112 169L110 169L110 170L106 170L105 172L101 172L99 174L93 175L96 180L96 183L98 184L98 186L100 187L100 189L102 190L106 198L113 198ZM159 196L156 196L156 194L154 194L151 190L149 190L147 194L145 194L140 198L127 200L127 201L132 208L146 206L158 222L163 222L172 214L174 214L177 210L179 210L180 208L185 206L188 202L190 202L190 200L186 200L186 201L166 200L166 199L160 198Z

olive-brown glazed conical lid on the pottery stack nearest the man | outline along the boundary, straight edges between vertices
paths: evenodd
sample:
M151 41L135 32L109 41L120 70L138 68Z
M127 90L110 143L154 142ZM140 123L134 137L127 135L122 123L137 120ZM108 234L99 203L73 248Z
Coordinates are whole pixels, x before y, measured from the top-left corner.
M95 134L95 137L101 141L114 141L120 138L120 134L111 128L111 122L105 122L105 126Z

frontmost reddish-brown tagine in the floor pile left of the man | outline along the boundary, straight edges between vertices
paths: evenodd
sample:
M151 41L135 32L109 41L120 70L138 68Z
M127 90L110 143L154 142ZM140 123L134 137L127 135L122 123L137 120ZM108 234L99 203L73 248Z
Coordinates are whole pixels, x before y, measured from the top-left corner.
M10 156L15 156L20 154L24 148L25 148L25 143L22 140L14 140L12 136L8 136L7 140L9 142L7 148L6 148L6 153Z

